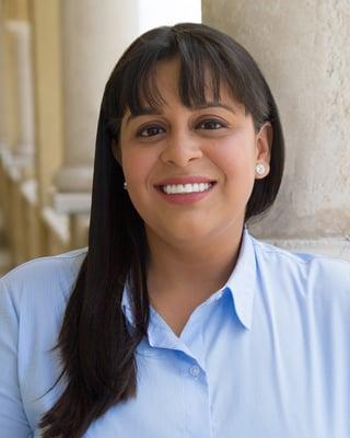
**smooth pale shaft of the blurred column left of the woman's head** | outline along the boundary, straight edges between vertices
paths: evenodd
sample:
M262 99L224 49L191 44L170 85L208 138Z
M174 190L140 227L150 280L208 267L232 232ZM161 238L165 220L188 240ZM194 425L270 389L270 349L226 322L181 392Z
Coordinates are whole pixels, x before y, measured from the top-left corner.
M66 165L92 165L105 83L138 30L133 3L122 13L118 7L115 0L103 8L94 0L62 1Z

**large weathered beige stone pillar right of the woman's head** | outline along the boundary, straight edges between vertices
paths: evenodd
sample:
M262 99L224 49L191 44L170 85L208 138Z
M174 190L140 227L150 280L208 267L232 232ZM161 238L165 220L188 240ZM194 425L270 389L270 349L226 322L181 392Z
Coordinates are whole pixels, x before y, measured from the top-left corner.
M276 206L253 232L290 250L350 258L348 0L203 0L203 22L261 67L287 142Z

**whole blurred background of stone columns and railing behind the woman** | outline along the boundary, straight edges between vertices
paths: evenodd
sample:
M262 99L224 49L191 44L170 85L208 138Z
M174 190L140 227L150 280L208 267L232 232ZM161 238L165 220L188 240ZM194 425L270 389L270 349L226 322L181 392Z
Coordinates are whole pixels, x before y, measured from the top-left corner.
M350 260L348 0L0 0L0 275L88 244L108 74L138 35L185 21L243 44L280 108L285 175L253 234Z

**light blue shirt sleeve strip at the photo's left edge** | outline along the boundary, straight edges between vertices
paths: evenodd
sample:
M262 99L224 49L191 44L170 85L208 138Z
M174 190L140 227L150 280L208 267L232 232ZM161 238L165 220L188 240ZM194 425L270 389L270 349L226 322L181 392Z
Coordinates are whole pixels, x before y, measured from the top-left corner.
M0 279L0 436L28 438L18 376L19 318L5 284Z

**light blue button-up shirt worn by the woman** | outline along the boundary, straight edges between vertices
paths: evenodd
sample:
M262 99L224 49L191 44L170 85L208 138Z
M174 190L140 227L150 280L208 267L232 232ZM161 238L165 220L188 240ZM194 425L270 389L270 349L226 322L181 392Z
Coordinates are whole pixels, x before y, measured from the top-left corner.
M60 373L55 346L85 250L1 279L0 436L39 437ZM132 323L128 295L124 312ZM349 438L350 264L291 254L244 231L226 285L177 337L151 309L138 394L86 438ZM63 383L62 383L63 384Z

